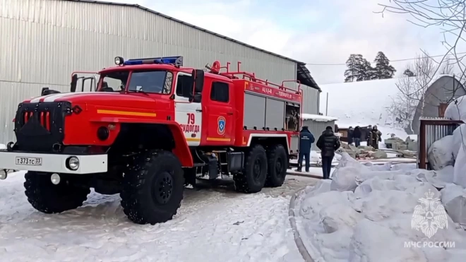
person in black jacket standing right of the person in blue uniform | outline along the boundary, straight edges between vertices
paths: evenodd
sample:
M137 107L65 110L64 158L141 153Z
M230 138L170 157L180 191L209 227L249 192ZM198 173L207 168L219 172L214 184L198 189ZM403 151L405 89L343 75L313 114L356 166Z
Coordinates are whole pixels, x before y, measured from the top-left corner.
M340 140L333 133L331 126L327 126L325 131L322 132L316 145L321 150L323 179L329 179L335 150L340 148Z

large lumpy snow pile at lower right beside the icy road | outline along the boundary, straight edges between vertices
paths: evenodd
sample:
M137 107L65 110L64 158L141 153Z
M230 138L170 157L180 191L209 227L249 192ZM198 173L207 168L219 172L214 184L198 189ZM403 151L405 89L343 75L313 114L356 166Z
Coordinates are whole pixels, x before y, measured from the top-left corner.
M315 261L464 261L466 232L455 222L463 222L465 216L455 210L466 205L466 191L451 184L452 167L437 172L397 166L374 170L343 153L332 181L302 191L295 210L297 225ZM412 228L414 208L429 192L441 198L439 203L450 214L448 226L438 227L433 235ZM422 244L405 247L414 242ZM424 242L454 242L455 247Z

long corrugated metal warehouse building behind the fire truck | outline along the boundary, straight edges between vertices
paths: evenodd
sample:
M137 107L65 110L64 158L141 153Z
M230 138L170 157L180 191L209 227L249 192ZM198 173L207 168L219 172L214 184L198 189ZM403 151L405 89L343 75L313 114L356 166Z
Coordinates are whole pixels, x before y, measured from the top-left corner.
M304 112L318 114L320 89L305 64L148 8L86 0L0 0L0 143L13 141L18 103L42 87L66 91L71 72L112 66L115 56L184 56L203 69L219 60L273 83L304 85ZM234 69L235 66L232 66ZM288 85L289 86L289 85Z

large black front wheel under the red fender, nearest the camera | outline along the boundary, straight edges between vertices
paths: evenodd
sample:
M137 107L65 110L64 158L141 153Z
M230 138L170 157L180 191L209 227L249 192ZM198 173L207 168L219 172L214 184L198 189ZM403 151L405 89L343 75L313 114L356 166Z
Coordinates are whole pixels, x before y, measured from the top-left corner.
M173 153L153 150L136 157L123 179L121 206L138 224L167 222L177 214L184 189L184 172Z

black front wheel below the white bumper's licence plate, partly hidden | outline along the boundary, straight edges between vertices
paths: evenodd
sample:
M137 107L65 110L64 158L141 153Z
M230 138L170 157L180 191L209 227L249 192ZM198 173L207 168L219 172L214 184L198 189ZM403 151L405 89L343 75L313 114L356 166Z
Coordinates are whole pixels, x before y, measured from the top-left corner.
M25 174L25 194L32 207L42 213L53 214L83 206L90 193L89 188L73 186L65 179L54 185L50 175L33 171Z

